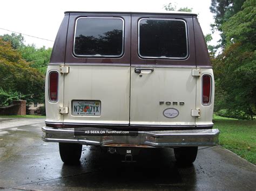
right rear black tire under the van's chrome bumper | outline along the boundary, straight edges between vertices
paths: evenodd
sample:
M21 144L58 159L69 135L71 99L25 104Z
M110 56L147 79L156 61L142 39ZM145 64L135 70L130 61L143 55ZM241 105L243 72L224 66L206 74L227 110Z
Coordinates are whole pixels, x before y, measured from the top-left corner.
M174 148L174 155L181 165L190 165L197 158L197 146Z

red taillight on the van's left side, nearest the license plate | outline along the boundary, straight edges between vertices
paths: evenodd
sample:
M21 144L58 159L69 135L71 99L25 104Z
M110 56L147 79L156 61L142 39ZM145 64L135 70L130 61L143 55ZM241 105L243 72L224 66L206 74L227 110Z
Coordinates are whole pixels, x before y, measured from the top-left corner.
M49 98L50 101L56 102L58 100L58 72L50 72L49 74Z

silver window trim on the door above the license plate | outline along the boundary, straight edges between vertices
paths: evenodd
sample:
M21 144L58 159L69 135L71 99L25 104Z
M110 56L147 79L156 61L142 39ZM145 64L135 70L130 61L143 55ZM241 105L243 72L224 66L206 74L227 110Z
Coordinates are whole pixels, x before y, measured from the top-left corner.
M82 55L82 54L76 54L75 53L75 40L76 40L76 31L77 31L77 21L79 19L120 19L123 22L123 36L122 36L122 52L119 55ZM76 57L91 57L91 58L120 58L124 54L124 24L125 21L121 17L79 17L76 19L75 24L75 32L74 32L74 38L73 38L73 55Z

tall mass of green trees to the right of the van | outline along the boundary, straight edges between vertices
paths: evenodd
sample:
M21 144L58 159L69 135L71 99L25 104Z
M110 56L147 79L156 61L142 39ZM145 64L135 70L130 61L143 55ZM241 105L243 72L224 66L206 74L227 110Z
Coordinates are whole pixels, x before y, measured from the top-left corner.
M256 115L256 6L247 0L240 11L219 27L224 51L213 60L217 108L253 119ZM218 100L220 98L220 100Z

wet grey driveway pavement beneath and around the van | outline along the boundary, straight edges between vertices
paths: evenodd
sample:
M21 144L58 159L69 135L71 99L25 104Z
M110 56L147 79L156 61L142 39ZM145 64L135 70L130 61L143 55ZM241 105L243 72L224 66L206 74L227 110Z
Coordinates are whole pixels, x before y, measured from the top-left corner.
M10 126L3 121L6 118L0 118L0 188L256 189L256 166L219 146L199 147L197 160L189 167L178 166L170 148L147 148L137 162L124 163L99 147L83 146L80 165L67 166L58 144L41 140L44 119L26 119L26 125L9 119Z

